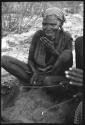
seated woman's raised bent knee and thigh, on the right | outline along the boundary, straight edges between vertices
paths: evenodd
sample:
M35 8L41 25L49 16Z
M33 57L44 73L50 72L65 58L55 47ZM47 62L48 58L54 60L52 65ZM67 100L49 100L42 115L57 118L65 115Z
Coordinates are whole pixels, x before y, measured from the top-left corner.
M70 50L63 51L56 61L52 74L64 75L65 70L68 70L72 63L72 52Z

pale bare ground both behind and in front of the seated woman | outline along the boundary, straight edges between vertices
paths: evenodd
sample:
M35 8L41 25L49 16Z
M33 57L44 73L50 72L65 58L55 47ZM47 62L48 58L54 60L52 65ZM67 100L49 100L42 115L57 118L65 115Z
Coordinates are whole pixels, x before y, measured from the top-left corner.
M73 37L82 35L83 18L81 15L69 15L66 18L69 22L64 25L64 29L70 31ZM27 63L30 41L34 32L35 30L32 29L31 33L8 34L3 37L2 55L11 55ZM70 108L69 103L62 105L62 108L48 110L42 115L43 111L58 103L58 100L52 100L45 89L32 88L25 92L20 87L22 85L21 81L4 69L1 69L1 83L11 87L15 86L10 97L7 95L1 100L1 113L8 123L65 123L69 119L69 111L73 107ZM3 107L3 103L6 101L6 107ZM73 105L73 103L70 103L70 105Z

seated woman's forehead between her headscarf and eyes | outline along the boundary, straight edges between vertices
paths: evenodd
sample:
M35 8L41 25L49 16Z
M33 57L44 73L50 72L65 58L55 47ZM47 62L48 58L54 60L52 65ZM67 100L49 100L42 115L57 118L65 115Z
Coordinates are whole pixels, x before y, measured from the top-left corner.
M43 23L54 23L61 22L55 15L47 15L43 18Z

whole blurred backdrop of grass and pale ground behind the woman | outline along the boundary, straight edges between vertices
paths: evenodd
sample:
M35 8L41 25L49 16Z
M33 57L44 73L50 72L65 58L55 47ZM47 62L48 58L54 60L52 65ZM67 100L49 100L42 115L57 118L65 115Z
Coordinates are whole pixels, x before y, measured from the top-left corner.
M62 9L66 18L63 29L74 39L82 36L83 6L83 1L2 2L2 55L11 53L27 61L32 36L42 29L42 11L49 7Z

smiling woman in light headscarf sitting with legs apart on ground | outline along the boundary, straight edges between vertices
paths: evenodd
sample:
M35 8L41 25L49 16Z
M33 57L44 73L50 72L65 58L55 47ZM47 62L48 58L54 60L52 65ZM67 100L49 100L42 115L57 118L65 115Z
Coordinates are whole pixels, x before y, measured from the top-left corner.
M63 31L64 22L64 14L59 8L48 8L43 13L42 30L37 31L31 41L28 64L10 56L2 56L1 66L31 85L50 85L62 80L64 71L72 65L72 37Z

